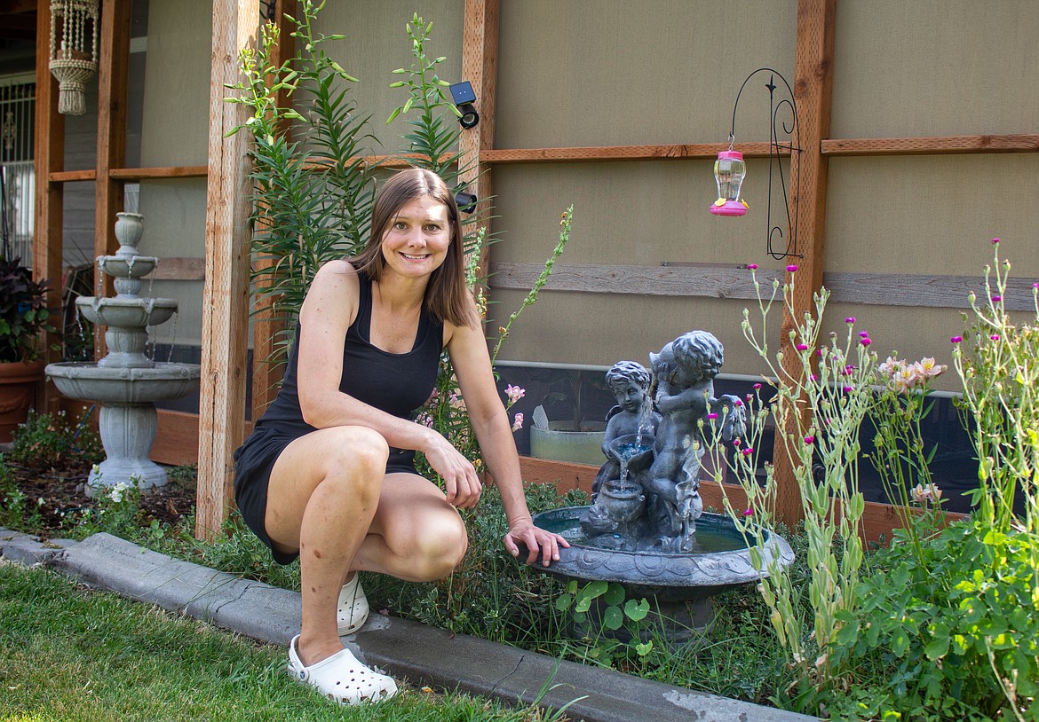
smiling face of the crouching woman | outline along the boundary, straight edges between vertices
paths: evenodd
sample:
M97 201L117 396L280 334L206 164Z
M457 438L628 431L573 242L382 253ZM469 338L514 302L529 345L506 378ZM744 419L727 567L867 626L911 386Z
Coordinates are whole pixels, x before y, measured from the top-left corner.
M414 198L382 233L385 270L404 278L428 277L444 262L450 244L447 206L431 196Z

